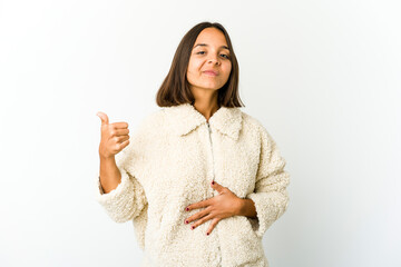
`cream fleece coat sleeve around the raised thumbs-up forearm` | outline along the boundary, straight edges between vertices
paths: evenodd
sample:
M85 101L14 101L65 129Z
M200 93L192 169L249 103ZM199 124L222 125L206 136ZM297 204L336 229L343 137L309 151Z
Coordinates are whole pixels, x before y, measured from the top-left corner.
M116 222L133 220L147 205L144 188L131 171L131 160L136 160L133 157L134 142L130 138L129 145L115 157L117 168L121 174L121 181L114 190L108 194L104 192L100 176L97 172L96 200Z

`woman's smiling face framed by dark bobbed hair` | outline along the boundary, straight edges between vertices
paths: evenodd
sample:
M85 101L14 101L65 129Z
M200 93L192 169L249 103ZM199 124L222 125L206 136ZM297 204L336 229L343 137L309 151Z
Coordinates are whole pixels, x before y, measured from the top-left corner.
M200 31L188 62L187 80L190 89L218 90L227 82L231 69L224 33L215 28Z

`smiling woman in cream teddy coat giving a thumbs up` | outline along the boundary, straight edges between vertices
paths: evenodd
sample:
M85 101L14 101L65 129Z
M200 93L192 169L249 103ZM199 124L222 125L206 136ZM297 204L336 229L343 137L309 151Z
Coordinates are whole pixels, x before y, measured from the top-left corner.
M226 30L202 22L157 92L163 109L131 138L99 112L97 200L134 222L141 266L268 266L262 237L287 208L290 175L266 129L238 109L237 86Z

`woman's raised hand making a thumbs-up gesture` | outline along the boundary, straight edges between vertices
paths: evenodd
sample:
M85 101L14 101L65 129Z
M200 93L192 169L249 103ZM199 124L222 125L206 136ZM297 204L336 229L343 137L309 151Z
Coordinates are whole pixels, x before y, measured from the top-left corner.
M96 113L101 119L101 138L99 145L99 155L104 158L114 157L129 144L129 129L127 122L109 123L106 113Z

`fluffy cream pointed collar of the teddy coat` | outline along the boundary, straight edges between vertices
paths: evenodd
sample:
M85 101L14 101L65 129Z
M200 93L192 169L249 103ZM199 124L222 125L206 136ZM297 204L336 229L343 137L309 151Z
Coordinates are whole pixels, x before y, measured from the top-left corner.
M178 136L185 136L199 125L206 123L206 118L190 103L165 107L165 111ZM212 128L236 140L242 127L242 111L239 108L222 106L212 115L208 122Z

